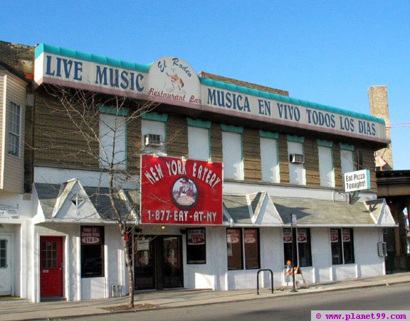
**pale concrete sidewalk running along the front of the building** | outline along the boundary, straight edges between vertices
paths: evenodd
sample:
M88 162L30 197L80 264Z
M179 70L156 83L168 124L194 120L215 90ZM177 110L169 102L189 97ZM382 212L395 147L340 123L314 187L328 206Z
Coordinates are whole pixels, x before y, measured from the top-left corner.
M304 295L308 293L345 290L349 288L365 288L410 282L410 272L375 276L372 278L349 279L326 283L315 283L307 288L300 288L291 293L290 288L277 290L271 294L270 289L262 288L260 295L253 290L162 290L140 292L135 294L135 305L145 308L177 308L189 305L206 305L241 300L257 300L285 295ZM112 307L127 305L128 297L108 298L100 300L59 301L48 303L28 303L24 300L0 299L0 320L44 320L61 317L83 317L112 313Z

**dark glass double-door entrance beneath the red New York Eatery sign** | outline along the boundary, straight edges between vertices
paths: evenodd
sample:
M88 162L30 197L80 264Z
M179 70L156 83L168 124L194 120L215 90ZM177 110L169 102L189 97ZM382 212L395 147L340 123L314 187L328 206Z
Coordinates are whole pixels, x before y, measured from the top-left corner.
M135 238L135 290L182 288L182 237L139 236Z

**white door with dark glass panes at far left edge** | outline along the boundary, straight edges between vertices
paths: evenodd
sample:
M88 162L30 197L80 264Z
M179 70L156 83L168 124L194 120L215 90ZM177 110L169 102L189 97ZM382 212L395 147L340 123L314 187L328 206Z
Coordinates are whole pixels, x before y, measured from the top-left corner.
M11 236L0 235L0 295L11 295Z

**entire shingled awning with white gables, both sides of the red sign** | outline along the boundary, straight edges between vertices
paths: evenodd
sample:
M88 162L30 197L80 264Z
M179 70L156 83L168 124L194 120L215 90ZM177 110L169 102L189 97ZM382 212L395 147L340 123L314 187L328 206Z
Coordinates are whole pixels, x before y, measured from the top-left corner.
M113 222L107 188L83 187L73 179L61 185L35 185L38 222ZM122 217L138 222L140 193L118 190L115 197ZM40 210L41 209L41 210ZM289 227L291 214L299 227L395 227L384 199L333 202L302 197L271 197L267 192L224 195L224 226Z

